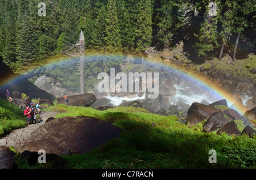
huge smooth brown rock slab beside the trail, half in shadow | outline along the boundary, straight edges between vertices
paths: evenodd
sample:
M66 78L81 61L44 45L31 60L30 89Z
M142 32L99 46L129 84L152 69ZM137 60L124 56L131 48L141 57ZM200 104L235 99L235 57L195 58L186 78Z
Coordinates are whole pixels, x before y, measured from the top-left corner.
M26 143L15 148L18 152L43 149L56 155L84 153L117 137L120 131L121 128L97 118L62 117L40 126Z

